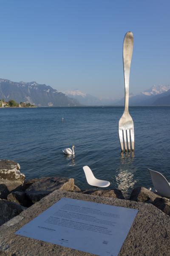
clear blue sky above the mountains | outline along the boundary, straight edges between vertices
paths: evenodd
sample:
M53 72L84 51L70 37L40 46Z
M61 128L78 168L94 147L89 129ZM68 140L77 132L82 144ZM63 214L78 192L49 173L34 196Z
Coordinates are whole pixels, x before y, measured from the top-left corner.
M122 97L132 31L130 93L170 84L169 12L169 0L0 0L0 78Z

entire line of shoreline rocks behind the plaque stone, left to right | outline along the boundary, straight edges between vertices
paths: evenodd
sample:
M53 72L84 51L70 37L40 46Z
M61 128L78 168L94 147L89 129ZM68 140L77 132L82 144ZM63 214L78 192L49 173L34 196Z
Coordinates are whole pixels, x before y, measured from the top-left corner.
M25 181L25 175L20 173L18 163L11 160L0 160L0 225L54 190L125 199L119 189L81 191L74 184L73 178L41 177ZM163 198L144 187L134 188L129 200L153 204L170 216L170 199Z

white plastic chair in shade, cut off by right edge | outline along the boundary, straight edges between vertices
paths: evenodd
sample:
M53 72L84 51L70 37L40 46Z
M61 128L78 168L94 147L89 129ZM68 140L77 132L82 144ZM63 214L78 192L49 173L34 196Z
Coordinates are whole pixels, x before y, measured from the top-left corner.
M148 169L152 179L152 183L157 192L165 197L170 197L170 183L167 179L160 173Z

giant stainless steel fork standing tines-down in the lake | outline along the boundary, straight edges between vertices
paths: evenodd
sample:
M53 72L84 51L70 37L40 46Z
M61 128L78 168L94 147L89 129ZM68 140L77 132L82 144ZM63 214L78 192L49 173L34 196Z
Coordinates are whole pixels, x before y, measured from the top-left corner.
M129 74L130 74L130 63L133 52L133 34L127 32L123 41L123 70L124 70L124 81L125 81L125 111L119 120L119 140L122 151L124 150L123 144L125 144L125 151L130 151L130 138L132 151L134 150L134 125L132 117L129 114ZM124 143L123 143L124 139Z

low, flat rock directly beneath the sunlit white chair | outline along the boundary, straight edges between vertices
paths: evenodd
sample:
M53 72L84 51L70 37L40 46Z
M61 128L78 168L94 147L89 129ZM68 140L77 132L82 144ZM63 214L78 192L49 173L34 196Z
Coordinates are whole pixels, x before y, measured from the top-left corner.
M122 192L119 189L85 190L85 191L82 191L82 193L88 194L88 195L99 195L99 196L110 197L110 198L124 199L124 196L122 195Z

